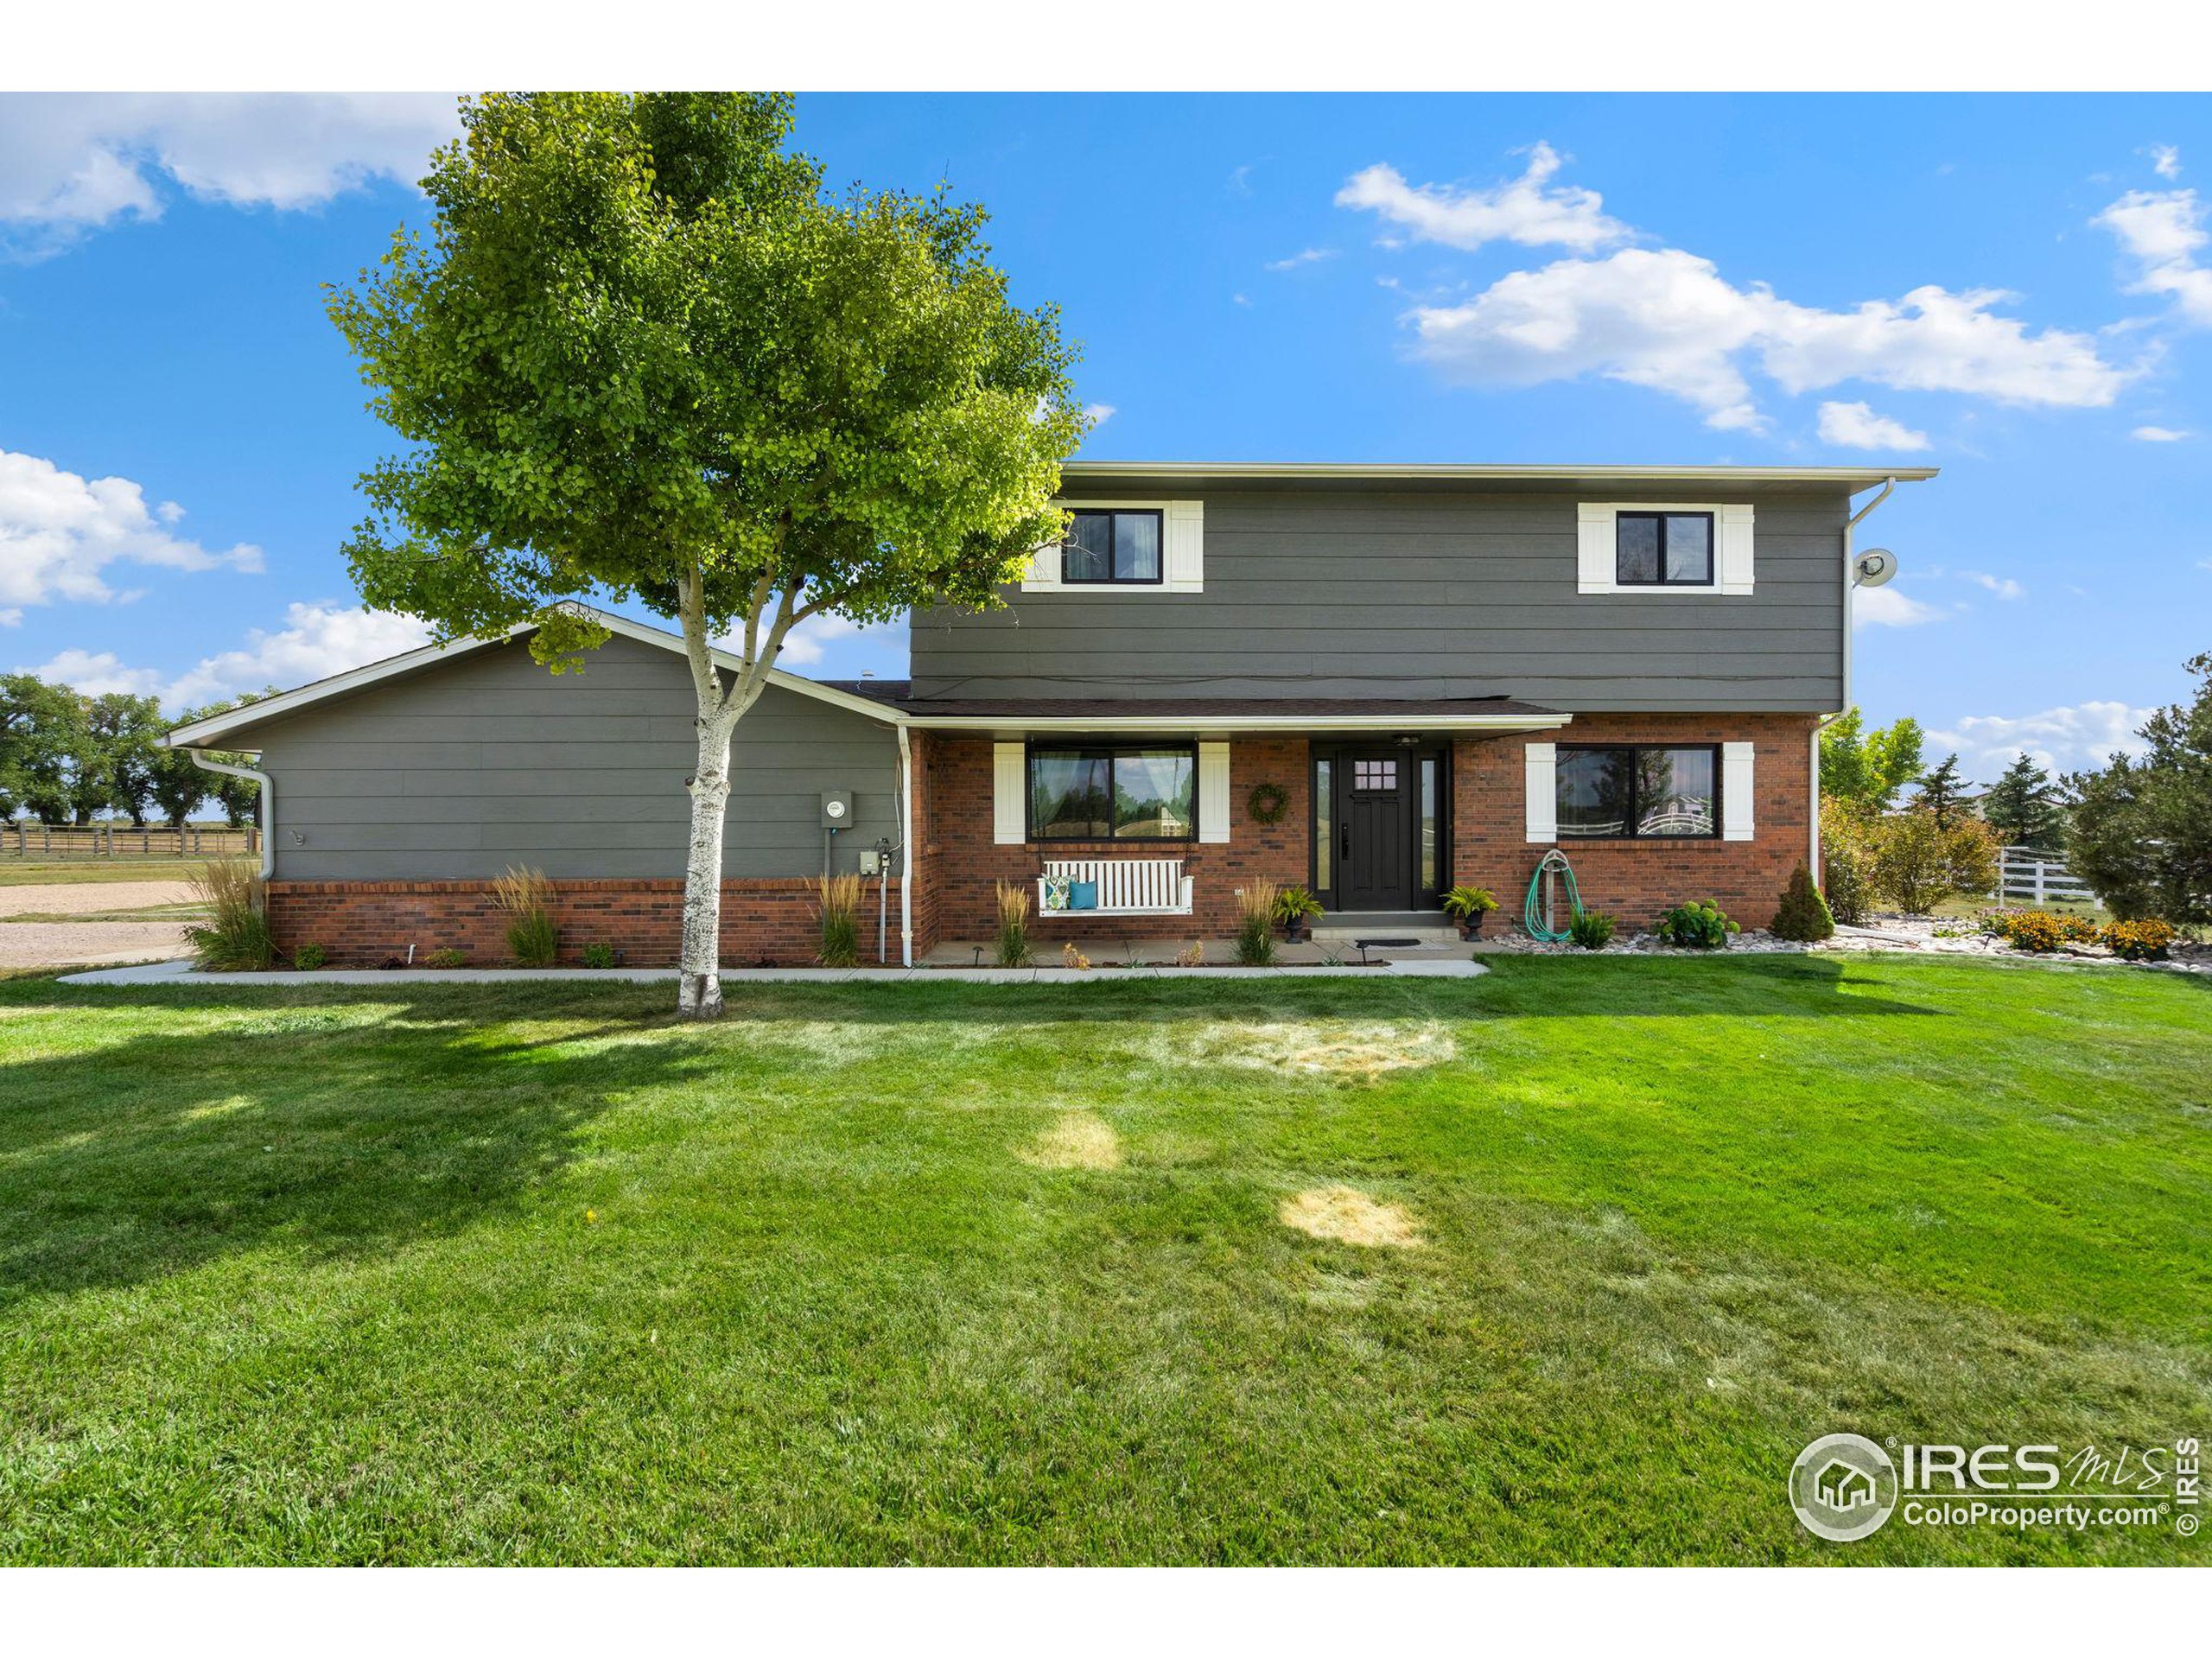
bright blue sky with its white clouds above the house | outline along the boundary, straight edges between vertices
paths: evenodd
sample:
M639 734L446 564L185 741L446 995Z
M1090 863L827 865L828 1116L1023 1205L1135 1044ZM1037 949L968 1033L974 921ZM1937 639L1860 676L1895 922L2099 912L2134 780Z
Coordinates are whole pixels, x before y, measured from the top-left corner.
M385 436L321 283L449 100L0 97L0 664L199 701L405 646L336 546ZM807 95L1057 301L1084 453L1942 467L1858 699L1991 776L2212 650L2201 97ZM801 641L898 672L900 635Z

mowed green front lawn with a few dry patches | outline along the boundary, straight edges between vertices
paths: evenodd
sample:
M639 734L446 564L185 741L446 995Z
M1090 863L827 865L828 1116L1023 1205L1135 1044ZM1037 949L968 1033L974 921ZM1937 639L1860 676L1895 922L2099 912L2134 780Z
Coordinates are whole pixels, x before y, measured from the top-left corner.
M2205 1559L1783 1480L2212 1427L2208 980L732 991L0 982L0 1559Z

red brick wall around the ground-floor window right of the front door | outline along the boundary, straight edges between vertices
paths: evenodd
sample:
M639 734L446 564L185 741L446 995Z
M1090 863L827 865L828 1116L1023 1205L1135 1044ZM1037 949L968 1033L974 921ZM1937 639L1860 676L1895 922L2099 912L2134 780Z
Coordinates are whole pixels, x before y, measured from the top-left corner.
M1588 909L1613 911L1624 933L1686 898L1710 898L1743 927L1774 920L1794 865L1812 856L1812 714L1575 714L1557 732L1460 739L1451 748L1453 878L1489 887L1511 925L1537 860L1551 849L1526 832L1528 743L1754 745L1750 841L1562 841Z

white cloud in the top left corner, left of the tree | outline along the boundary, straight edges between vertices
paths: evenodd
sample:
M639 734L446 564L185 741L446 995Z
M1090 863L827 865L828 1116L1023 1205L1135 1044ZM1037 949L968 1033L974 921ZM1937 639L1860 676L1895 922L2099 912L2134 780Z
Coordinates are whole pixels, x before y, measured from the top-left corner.
M53 252L157 219L168 179L204 201L307 208L414 181L458 131L447 93L33 93L0 100L0 234Z

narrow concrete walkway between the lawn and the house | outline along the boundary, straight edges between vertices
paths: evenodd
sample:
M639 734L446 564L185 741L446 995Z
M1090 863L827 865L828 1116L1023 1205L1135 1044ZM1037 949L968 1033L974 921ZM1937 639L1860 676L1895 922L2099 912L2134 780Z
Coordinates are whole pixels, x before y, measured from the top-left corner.
M1473 980L1489 973L1469 958L1416 958L1376 967L1137 967L1137 969L723 969L723 984L1113 984L1117 980L1371 980L1376 975ZM69 973L60 984L577 984L613 980L650 984L672 980L675 969L321 969L316 973L201 973L190 962L139 962L137 967Z

